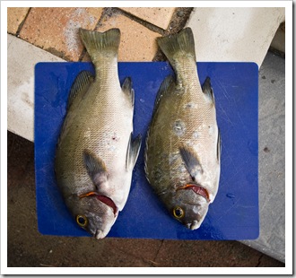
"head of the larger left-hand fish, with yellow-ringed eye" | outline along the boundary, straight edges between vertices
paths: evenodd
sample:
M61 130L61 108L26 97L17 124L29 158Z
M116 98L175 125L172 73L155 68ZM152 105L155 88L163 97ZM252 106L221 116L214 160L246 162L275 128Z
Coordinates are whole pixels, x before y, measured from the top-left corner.
M109 233L117 219L118 213L111 205L102 201L96 194L72 198L71 204L75 222L84 230L87 230L96 239L103 239Z

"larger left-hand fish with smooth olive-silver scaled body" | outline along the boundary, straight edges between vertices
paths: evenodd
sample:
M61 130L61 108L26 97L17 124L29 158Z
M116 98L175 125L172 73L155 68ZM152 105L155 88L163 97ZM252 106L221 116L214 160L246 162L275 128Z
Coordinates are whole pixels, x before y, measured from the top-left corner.
M79 34L95 75L80 72L70 89L55 172L74 221L103 239L126 204L142 137L133 137L131 78L118 78L120 30Z

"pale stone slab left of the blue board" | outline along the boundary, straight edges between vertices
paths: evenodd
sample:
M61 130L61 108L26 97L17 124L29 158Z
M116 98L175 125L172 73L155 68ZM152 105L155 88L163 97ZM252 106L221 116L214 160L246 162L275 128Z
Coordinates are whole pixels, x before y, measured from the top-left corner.
M34 66L64 60L13 35L7 37L7 128L34 141Z

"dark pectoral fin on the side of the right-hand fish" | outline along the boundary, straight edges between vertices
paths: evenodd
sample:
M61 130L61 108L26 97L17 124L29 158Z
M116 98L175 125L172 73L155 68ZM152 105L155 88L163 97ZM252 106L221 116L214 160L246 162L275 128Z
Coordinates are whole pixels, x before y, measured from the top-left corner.
M191 178L193 181L196 181L197 175L203 173L203 168L198 161L196 154L187 147L180 147L179 152Z

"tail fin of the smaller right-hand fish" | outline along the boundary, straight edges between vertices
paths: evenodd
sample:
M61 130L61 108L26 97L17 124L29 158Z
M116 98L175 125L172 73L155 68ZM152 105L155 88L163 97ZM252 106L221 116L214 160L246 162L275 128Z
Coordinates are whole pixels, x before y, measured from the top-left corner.
M192 56L196 61L195 40L192 30L188 27L179 31L178 34L158 38L157 42L172 66L178 56Z

